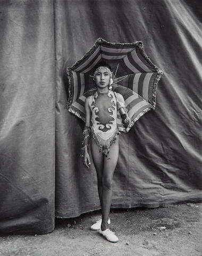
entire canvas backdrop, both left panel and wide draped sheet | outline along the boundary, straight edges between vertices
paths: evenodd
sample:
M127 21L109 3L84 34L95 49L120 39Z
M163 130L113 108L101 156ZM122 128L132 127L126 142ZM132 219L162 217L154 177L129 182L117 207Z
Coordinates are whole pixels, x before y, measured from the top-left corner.
M0 232L47 233L54 214L100 208L95 168L80 157L84 123L66 110L65 72L98 37L142 41L164 72L156 109L121 134L112 207L201 201L201 1L0 0L0 8Z

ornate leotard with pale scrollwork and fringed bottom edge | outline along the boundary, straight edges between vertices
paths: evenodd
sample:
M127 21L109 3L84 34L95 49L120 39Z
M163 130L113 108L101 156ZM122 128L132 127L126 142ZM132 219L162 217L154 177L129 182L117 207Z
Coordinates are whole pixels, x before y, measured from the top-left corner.
M113 91L105 94L95 92L89 97L91 110L91 134L100 151L107 155L111 144L120 134L117 128L117 100Z

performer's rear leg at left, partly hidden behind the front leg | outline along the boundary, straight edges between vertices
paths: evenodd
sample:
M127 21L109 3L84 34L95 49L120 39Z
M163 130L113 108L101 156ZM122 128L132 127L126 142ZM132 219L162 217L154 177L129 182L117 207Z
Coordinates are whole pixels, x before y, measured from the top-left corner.
M95 169L97 172L97 182L98 182L98 194L99 201L102 207L102 176L103 176L103 163L104 163L104 155L99 152L99 147L97 146L94 139L90 140L90 147L92 152L92 160L95 165Z

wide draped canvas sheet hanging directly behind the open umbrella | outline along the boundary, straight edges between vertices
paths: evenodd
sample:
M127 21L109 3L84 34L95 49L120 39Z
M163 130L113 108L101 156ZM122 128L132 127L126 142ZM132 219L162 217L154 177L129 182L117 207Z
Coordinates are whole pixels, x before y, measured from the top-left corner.
M55 1L57 217L100 208L95 168L86 170L80 157L84 124L65 108L65 68L99 37L142 41L164 72L156 109L121 134L112 207L201 200L199 6L199 1Z

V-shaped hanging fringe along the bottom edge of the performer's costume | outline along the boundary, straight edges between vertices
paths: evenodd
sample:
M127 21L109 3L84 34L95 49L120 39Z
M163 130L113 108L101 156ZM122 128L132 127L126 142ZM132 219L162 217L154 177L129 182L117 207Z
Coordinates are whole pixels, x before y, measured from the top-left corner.
M93 127L91 127L91 134L92 134L92 138L95 140L96 144L99 147L99 151L101 153L104 153L106 156L110 152L111 145L113 142L115 142L120 132L119 132L119 128L117 128L115 132L111 135L111 137L108 138L107 140L104 140L102 137L100 137L99 134L95 132Z

